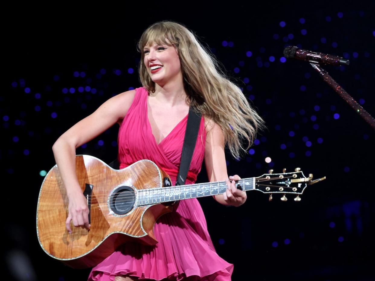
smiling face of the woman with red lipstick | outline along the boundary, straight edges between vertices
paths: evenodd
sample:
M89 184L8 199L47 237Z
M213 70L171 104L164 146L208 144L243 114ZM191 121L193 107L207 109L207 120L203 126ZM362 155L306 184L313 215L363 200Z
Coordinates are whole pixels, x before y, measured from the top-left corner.
M151 80L163 87L167 82L178 81L182 73L180 58L173 45L146 45L143 48L144 65Z

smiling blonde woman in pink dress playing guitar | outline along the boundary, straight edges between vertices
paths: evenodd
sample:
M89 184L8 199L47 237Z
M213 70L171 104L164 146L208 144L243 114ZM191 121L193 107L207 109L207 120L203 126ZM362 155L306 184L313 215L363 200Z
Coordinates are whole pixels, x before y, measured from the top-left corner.
M166 170L174 183L189 106L201 112L198 139L186 184L195 182L203 157L210 181L227 181L225 193L214 196L223 205L240 206L246 193L237 190L226 171L224 146L238 157L249 146L262 120L241 90L217 69L214 58L195 36L175 22L157 22L138 43L143 87L109 99L93 114L65 132L53 145L55 160L69 197L66 228L90 228L86 199L75 176L75 149L115 123L121 123L120 168L150 159ZM229 125L230 124L230 125ZM233 265L217 256L196 199L181 200L160 217L155 246L127 243L93 268L89 280L230 280Z

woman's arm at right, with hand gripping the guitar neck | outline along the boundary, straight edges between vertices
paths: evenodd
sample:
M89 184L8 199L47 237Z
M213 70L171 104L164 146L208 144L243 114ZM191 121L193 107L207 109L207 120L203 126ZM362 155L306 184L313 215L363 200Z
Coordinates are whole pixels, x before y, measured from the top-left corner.
M210 182L226 181L228 187L223 194L214 195L213 197L223 205L240 206L246 201L246 192L236 187L235 181L240 179L238 175L229 176L228 179L224 153L224 134L220 126L213 121L208 121L206 131L204 162L206 164L208 180Z

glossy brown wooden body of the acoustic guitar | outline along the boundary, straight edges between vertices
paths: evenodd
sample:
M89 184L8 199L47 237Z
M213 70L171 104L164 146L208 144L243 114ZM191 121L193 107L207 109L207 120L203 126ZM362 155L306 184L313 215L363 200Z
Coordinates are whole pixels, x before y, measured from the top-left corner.
M55 165L40 188L37 205L37 236L51 257L74 268L97 265L127 241L157 243L153 226L157 218L171 212L170 203L136 206L138 190L163 187L169 176L152 161L141 160L114 170L98 158L77 155L76 172L90 208L89 231L66 230L68 197Z

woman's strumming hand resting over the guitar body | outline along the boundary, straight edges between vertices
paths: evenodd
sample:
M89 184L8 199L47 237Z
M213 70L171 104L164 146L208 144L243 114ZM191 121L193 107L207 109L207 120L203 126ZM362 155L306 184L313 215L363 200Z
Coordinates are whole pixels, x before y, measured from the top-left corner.
M75 196L69 197L68 211L69 214L68 218L66 218L65 225L69 233L72 233L71 221L75 227L84 226L87 230L90 230L89 206L87 206L87 200L83 193L78 193L75 194Z

